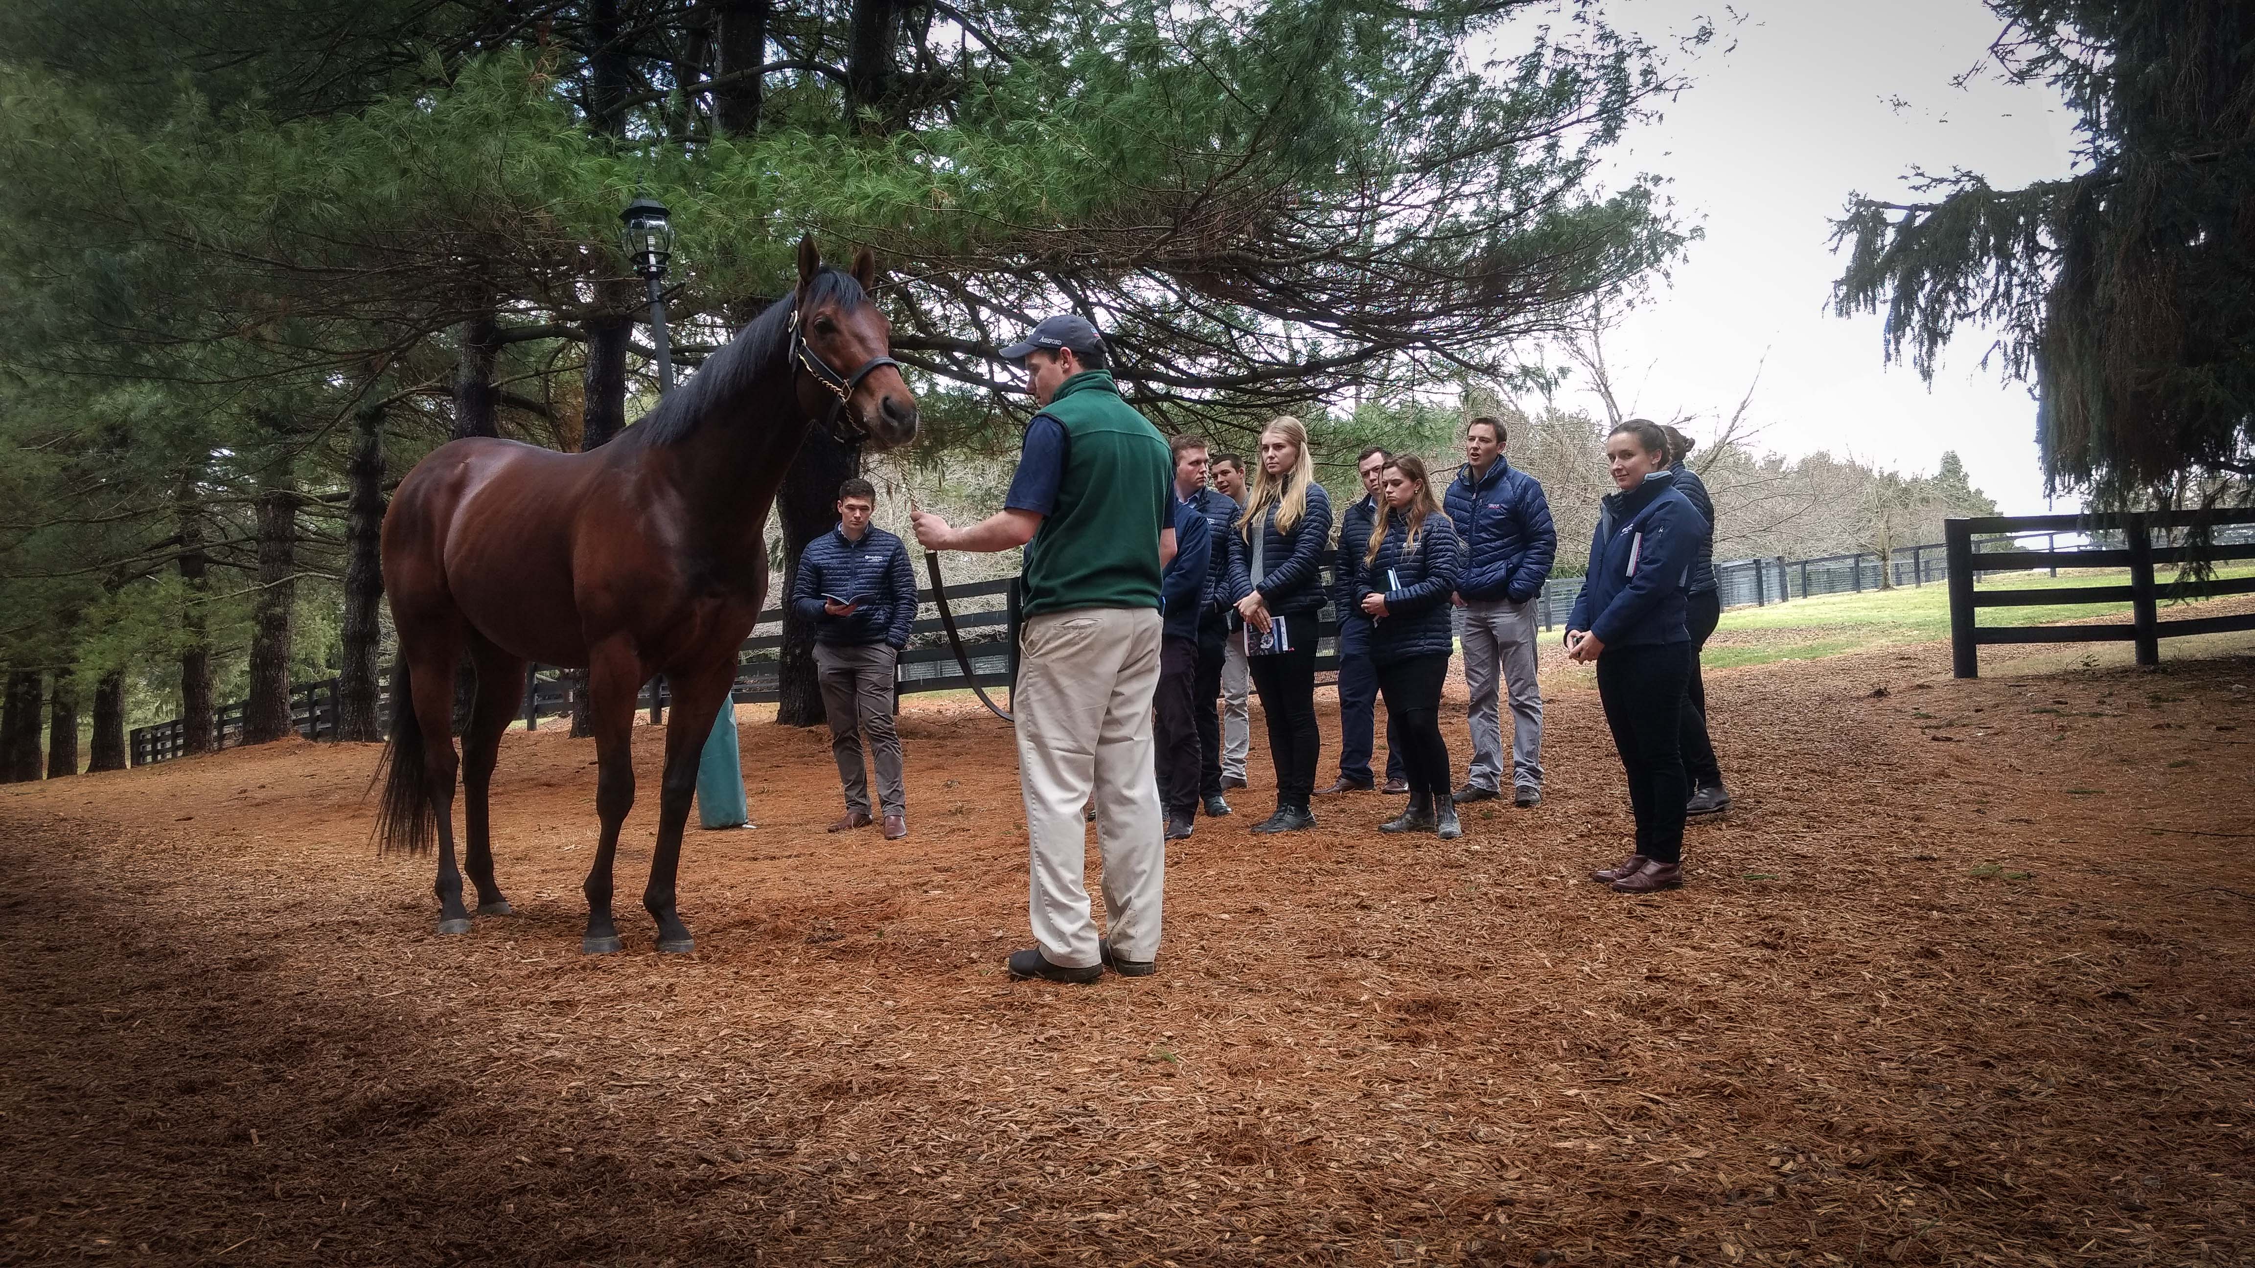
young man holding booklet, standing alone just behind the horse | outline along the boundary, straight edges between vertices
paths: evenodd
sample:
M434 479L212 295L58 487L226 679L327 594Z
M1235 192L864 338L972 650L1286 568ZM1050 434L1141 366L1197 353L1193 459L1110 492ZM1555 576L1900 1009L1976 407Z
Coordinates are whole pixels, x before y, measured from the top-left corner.
M814 670L830 717L830 756L846 785L846 817L832 833L870 824L861 736L877 758L877 803L884 837L909 835L909 794L900 781L900 736L893 731L893 672L916 625L916 566L900 537L868 521L877 490L852 478L839 485L839 526L807 541L792 584L792 607L814 620Z

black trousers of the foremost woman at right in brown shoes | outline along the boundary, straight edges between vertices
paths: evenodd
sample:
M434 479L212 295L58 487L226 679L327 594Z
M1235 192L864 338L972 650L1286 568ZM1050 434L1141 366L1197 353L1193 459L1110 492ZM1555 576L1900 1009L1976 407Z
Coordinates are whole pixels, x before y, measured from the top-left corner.
M1682 711L1691 679L1689 643L1606 648L1597 657L1597 697L1606 704L1612 747L1628 772L1628 805L1637 812L1637 853L1660 862L1684 857Z

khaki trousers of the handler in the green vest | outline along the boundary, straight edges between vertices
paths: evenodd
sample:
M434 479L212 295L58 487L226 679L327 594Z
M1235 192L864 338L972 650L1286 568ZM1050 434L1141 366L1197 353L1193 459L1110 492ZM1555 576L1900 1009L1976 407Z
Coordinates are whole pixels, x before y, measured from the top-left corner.
M1031 846L1026 914L1051 963L1089 968L1100 959L1082 819L1091 794L1114 954L1159 954L1166 828L1150 749L1157 684L1157 609L1078 607L1026 620L1010 713Z

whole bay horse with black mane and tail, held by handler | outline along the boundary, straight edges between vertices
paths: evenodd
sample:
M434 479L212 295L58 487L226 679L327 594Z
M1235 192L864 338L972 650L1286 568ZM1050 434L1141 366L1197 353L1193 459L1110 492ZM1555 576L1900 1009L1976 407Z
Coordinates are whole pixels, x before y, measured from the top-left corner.
M893 327L868 300L875 262L828 268L798 241L798 289L760 314L681 388L609 444L557 454L514 440L453 440L399 483L383 517L383 589L399 632L392 738L377 837L386 851L437 842L437 932L467 934L453 855L462 776L465 864L480 916L507 916L494 884L487 794L525 663L586 668L595 724L595 814L582 952L620 950L611 857L634 805L631 727L652 675L672 684L658 846L643 907L661 952L695 948L674 909L697 756L735 681L737 648L767 598L767 510L823 420L879 449L916 438L916 397L891 359ZM846 366L850 372L839 372ZM453 679L478 672L456 760Z

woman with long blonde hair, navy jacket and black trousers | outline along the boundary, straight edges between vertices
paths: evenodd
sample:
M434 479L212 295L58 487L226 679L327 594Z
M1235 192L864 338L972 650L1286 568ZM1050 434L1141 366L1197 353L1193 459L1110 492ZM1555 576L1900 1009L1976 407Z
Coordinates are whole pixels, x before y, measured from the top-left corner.
M1267 713L1276 763L1276 812L1254 833L1315 826L1308 796L1321 738L1315 731L1315 625L1324 607L1330 496L1315 483L1308 429L1276 417L1261 431L1261 469L1229 535L1229 596L1245 618L1245 650Z

